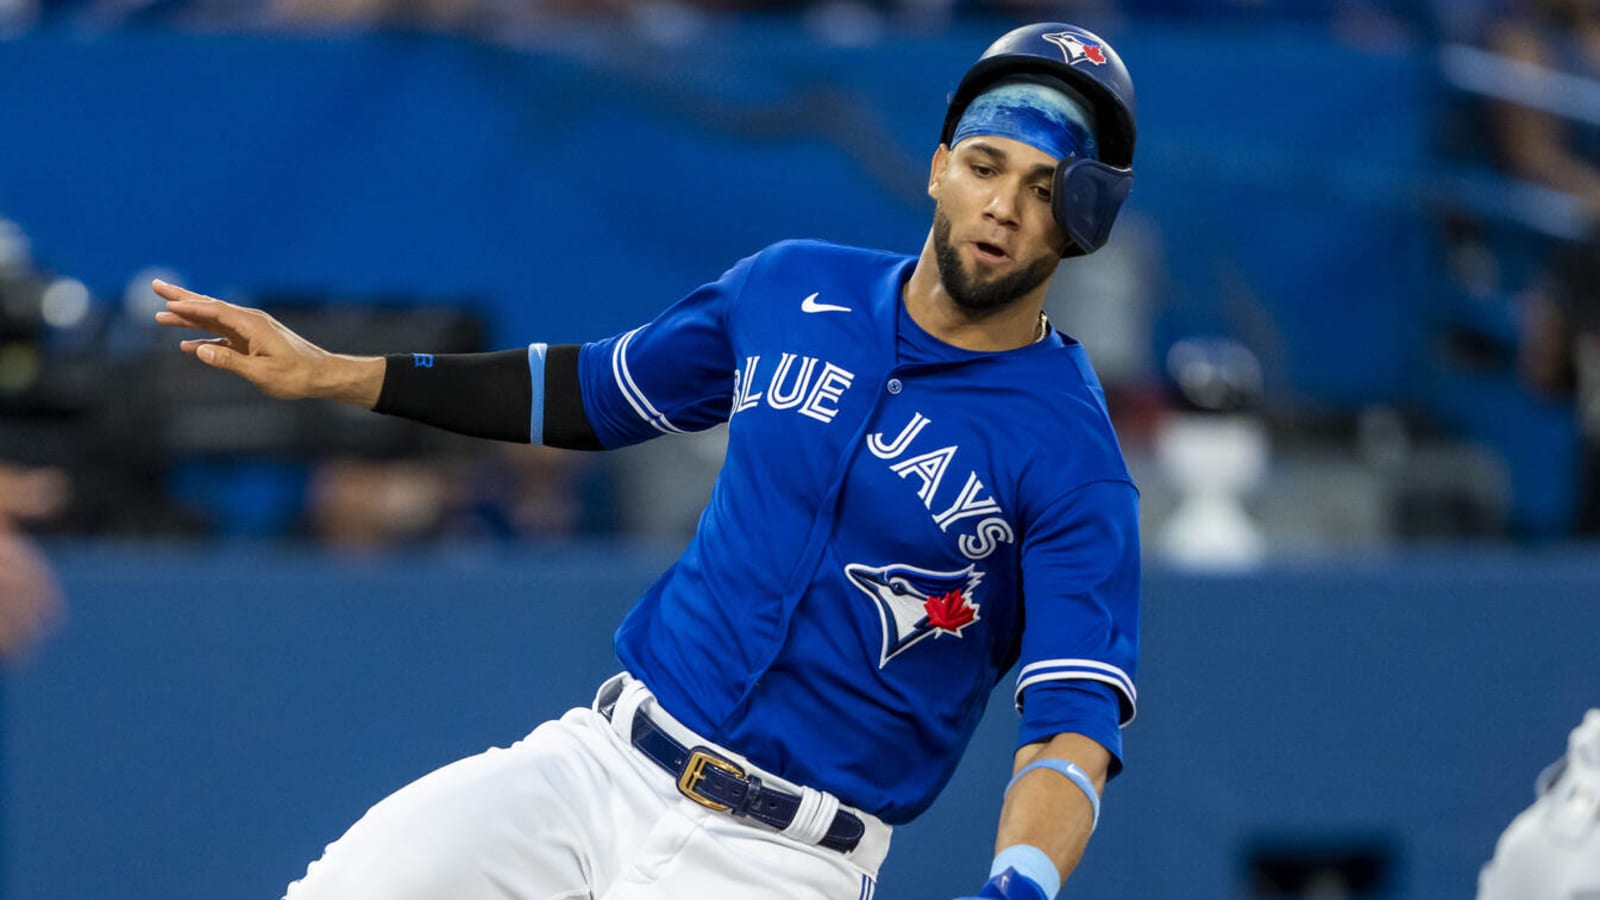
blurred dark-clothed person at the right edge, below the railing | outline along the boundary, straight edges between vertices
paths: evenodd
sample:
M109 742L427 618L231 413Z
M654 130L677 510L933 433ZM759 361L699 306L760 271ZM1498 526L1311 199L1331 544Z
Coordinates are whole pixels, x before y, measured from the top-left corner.
M1562 248L1525 296L1518 368L1530 388L1578 408L1578 532L1600 533L1600 229Z

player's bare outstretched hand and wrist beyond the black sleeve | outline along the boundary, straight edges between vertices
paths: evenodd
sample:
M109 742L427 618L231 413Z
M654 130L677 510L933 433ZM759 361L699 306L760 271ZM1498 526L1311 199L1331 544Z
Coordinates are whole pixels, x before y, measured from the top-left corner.
M232 372L270 397L318 397L365 408L378 405L384 384L382 357L333 354L259 309L234 306L162 280L150 287L166 301L166 309L155 314L158 323L214 335L179 344L200 362Z

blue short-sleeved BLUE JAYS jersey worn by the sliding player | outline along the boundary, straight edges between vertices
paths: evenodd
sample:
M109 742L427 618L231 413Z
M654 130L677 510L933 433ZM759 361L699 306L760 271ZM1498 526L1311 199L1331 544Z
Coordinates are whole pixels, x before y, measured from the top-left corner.
M579 351L608 448L728 423L622 665L704 737L890 823L949 781L1013 666L1019 743L1085 733L1114 770L1138 698L1138 493L1083 349L944 344L901 301L914 266L778 243Z

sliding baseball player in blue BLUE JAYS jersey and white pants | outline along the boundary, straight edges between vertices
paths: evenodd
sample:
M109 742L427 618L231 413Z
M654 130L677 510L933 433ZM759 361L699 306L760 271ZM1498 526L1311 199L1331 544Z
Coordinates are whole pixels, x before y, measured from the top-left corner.
M1133 179L1117 53L1016 29L957 86L918 255L784 242L582 346L347 357L157 282L158 320L275 397L614 448L728 424L694 540L594 703L400 790L291 900L862 900L1016 668L979 897L1054 897L1134 716L1138 495L1083 348L1043 317ZM974 884L981 879L974 876Z

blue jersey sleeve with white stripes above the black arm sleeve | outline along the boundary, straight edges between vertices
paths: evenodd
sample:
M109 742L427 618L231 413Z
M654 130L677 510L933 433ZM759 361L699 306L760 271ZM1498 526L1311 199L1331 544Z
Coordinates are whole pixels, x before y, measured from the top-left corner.
M741 259L650 323L579 349L584 415L602 447L728 420L736 368L728 320L754 263Z

